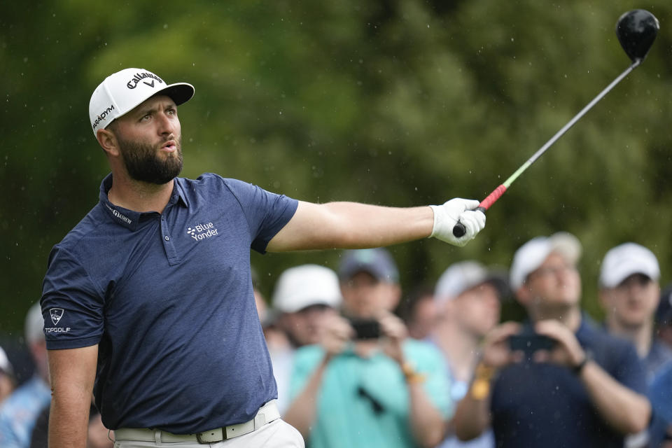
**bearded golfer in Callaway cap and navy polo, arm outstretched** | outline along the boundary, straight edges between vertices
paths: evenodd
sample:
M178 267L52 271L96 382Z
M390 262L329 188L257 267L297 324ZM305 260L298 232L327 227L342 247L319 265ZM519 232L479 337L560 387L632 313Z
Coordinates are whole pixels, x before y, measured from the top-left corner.
M91 393L118 448L302 447L279 419L250 248L366 248L482 230L476 200L311 204L216 174L183 179L177 106L194 88L144 69L94 90L111 174L51 251L43 282L51 448L85 447ZM452 235L457 221L467 232ZM177 445L175 445L177 446Z

